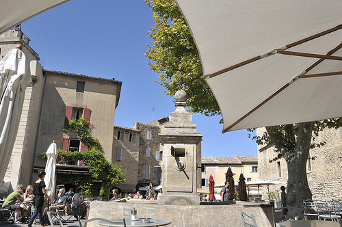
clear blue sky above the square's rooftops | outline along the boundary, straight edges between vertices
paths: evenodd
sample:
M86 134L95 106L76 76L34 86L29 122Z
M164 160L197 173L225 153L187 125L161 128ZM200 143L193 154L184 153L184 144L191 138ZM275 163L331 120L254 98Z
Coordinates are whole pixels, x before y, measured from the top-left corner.
M144 0L71 0L29 19L22 30L44 68L122 81L114 124L132 127L176 108L146 63L146 44L153 43L147 32L153 25L153 12ZM192 117L203 135L202 157L257 155L248 132L222 134L220 118Z

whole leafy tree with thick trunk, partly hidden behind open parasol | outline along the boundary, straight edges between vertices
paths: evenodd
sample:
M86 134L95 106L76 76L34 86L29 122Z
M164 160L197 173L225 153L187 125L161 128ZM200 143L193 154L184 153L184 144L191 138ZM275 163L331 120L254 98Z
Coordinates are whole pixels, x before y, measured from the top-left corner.
M159 73L156 82L166 88L164 92L170 96L179 89L185 90L189 111L205 116L220 115L218 103L202 77L192 34L174 0L146 0L146 4L155 18L155 26L148 31L148 36L155 41L153 46L148 45L146 56L151 70ZM315 144L313 135L326 127L338 129L340 126L339 119L272 126L267 127L262 136L254 137L259 144L273 144L278 151L276 159L283 157L287 162L289 206L302 207L304 199L312 198L306 162L310 148L324 145Z

